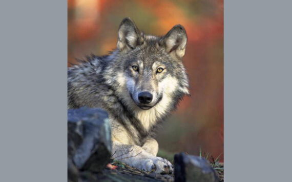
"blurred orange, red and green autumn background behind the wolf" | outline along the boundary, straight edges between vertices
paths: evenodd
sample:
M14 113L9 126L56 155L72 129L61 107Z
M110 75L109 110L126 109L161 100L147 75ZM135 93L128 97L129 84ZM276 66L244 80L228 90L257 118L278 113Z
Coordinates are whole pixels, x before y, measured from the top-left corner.
M183 62L192 96L158 133L159 154L199 155L201 149L223 161L223 0L68 0L68 66L115 49L127 16L148 34L164 35L181 24L188 36Z

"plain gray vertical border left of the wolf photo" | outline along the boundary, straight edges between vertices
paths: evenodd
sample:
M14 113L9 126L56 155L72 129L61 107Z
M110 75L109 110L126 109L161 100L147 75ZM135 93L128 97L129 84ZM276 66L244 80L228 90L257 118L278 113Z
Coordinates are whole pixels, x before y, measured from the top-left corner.
M67 1L0 1L0 181L67 181Z

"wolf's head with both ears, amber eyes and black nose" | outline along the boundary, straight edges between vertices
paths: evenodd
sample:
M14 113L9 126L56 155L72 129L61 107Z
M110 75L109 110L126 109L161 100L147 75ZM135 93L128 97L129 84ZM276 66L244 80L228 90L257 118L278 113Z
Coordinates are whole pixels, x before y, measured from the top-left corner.
M181 25L174 26L164 36L153 36L140 32L130 18L123 19L117 51L113 53L116 60L108 70L114 77L109 79L119 83L117 89L123 93L121 99L127 106L138 112L156 108L155 113L162 114L189 94L181 60L186 41Z

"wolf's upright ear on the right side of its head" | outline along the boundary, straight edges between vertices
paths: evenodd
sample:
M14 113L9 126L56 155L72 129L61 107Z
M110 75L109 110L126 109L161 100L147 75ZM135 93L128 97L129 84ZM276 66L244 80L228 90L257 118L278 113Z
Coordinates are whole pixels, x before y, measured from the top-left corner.
M182 58L184 56L187 36L185 29L181 25L174 26L159 41L159 45L165 48L165 51L173 56Z

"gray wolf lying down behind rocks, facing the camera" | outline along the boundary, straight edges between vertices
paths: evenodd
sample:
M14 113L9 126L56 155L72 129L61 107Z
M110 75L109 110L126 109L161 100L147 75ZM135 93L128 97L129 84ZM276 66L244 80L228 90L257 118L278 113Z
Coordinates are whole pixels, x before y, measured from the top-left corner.
M128 17L119 26L116 50L91 55L68 69L68 108L108 112L116 160L145 171L173 172L168 160L156 156L154 136L179 100L189 95L182 63L186 42L181 25L153 36L140 32Z

